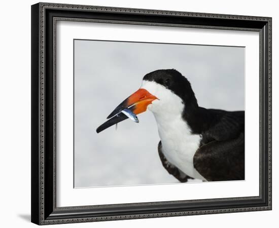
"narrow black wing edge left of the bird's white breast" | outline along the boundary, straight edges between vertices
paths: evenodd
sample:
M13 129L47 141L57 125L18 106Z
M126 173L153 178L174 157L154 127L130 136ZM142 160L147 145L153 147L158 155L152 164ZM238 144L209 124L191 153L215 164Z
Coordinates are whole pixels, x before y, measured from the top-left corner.
M162 152L161 141L158 144L158 153L159 153L159 157L160 157L163 167L167 170L167 172L169 174L176 177L180 182L187 182L188 179L193 179L192 177L186 175L179 168L177 168L176 166L172 165L170 162L167 161L166 157L164 156L164 154Z

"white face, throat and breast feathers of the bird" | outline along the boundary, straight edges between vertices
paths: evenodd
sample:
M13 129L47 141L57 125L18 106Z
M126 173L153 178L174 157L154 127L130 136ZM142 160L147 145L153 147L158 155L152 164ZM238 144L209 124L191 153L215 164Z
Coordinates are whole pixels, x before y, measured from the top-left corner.
M193 165L201 137L192 134L190 127L182 119L183 100L156 82L143 81L141 88L158 98L148 105L148 109L156 119L162 152L168 162L193 178L205 180Z

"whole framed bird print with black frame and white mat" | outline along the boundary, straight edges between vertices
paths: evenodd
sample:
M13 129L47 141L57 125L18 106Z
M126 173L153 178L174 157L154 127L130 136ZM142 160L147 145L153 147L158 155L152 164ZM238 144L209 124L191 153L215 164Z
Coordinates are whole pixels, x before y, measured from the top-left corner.
M31 6L31 221L271 210L271 18Z

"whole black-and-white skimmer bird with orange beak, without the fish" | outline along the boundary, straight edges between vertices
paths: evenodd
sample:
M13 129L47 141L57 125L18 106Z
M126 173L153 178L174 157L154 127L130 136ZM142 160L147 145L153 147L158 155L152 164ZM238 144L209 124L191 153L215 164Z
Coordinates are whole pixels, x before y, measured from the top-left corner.
M97 133L149 109L157 122L158 152L165 169L181 182L245 179L244 111L199 107L189 81L175 69L145 75L139 90L119 104Z

